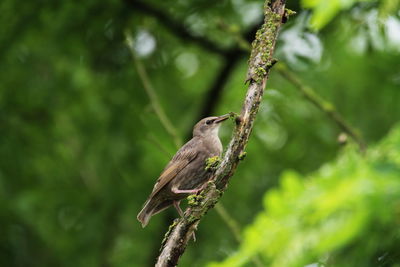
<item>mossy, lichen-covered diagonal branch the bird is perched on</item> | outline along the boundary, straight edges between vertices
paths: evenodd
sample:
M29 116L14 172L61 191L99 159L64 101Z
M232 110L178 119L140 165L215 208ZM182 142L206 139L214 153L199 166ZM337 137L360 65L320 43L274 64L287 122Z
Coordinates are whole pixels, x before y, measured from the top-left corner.
M196 201L191 203L185 211L184 217L175 220L171 225L162 242L160 256L156 263L158 267L177 265L200 219L218 202L229 179L236 170L252 132L269 71L274 63L272 54L278 30L282 24L284 10L284 0L275 0L272 3L266 1L264 24L256 34L249 61L247 76L249 88L241 114L236 117L236 128L231 142L220 167L216 170L204 191L194 197Z

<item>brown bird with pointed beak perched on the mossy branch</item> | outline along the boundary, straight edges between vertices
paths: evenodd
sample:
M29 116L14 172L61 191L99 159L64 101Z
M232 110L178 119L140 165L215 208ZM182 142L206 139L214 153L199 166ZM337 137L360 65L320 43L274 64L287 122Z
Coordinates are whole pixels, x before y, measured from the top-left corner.
M181 199L202 190L211 173L206 160L220 156L222 144L218 137L220 123L229 118L229 114L208 117L199 121L193 128L193 138L187 142L161 173L153 191L144 203L137 219L145 227L151 216L174 205L179 215L183 212L179 206Z

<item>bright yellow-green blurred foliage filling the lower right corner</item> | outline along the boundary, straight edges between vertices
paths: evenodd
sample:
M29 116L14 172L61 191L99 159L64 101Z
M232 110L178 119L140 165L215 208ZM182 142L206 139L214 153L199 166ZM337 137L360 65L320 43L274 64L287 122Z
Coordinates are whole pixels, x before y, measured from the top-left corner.
M239 250L220 264L399 266L400 126L365 156L346 148L304 177L286 171L264 196Z

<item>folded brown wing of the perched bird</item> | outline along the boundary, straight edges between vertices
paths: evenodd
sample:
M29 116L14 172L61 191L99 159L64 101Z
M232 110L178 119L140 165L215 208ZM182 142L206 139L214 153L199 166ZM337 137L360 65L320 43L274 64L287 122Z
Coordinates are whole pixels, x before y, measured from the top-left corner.
M175 154L158 178L156 184L154 185L153 192L151 192L149 196L149 199L157 194L161 188L168 184L180 171L182 171L198 156L198 150L195 149L194 146L195 142L189 141Z

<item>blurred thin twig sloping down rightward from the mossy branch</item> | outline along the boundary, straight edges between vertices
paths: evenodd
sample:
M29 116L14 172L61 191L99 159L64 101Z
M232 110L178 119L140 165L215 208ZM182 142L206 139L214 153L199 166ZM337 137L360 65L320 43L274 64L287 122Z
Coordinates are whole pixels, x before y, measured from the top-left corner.
M361 136L346 122L346 120L336 110L335 106L319 96L315 91L307 85L304 85L299 78L296 77L284 64L278 64L277 70L282 77L291 82L303 96L313 103L319 110L331 118L339 127L348 134L360 148L361 152L365 152L366 145Z

